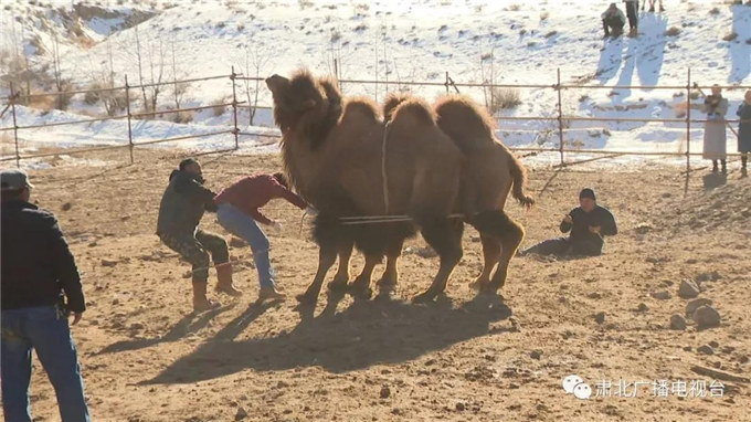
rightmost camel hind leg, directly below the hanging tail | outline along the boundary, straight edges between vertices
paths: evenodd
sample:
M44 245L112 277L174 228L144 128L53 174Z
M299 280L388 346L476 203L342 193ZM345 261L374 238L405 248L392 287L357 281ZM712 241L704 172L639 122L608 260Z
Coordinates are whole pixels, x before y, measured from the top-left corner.
M525 238L525 230L500 210L480 212L472 219L472 224L480 232L500 240L501 253L498 267L493 274L490 283L480 287L484 293L496 293L506 284L509 262L516 255L517 249Z

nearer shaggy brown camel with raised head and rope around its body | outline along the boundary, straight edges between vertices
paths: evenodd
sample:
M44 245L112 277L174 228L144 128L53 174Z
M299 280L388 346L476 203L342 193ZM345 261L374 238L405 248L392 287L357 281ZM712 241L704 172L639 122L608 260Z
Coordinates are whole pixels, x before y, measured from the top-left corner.
M334 264L348 260L355 243L366 254L366 268L355 285L369 288L372 267L384 253L401 252L410 224L345 226L341 217L406 214L441 255L441 270L424 298L444 287L462 255L461 231L447 221L457 202L462 154L436 125L433 112L419 101L393 109L387 129L372 103L345 102L330 81L297 72L292 80L266 80L274 97L274 117L282 128L282 154L290 182L319 211L316 239L319 268L302 300L318 296L322 278ZM387 145L388 203L381 171ZM406 225L406 226L405 226ZM351 246L350 246L351 247ZM340 267L336 282L346 278ZM384 285L395 283L394 265L384 273Z

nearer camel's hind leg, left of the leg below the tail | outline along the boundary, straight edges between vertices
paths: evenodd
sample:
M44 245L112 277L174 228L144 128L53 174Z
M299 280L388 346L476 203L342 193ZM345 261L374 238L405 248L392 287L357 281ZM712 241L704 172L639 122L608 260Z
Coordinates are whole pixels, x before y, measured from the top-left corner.
M433 278L431 286L413 298L413 302L427 302L434 299L446 289L448 277L454 267L462 260L462 232L464 224L458 220L447 218L431 218L419 221L422 235L441 257L438 273Z

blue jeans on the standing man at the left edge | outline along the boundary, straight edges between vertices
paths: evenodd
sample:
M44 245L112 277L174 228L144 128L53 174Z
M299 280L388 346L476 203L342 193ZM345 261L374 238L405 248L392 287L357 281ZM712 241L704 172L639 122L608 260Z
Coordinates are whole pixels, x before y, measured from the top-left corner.
M50 377L63 422L89 422L84 381L66 317L54 306L2 310L0 378L6 422L31 422L31 350Z

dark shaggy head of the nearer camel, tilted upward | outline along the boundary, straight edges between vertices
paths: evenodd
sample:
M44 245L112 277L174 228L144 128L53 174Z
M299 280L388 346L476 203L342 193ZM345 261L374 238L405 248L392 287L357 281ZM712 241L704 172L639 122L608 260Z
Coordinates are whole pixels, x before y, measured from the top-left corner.
M305 70L292 80L273 75L266 78L266 85L274 99L274 120L282 131L295 129L314 147L322 143L341 114L341 94L336 86Z

